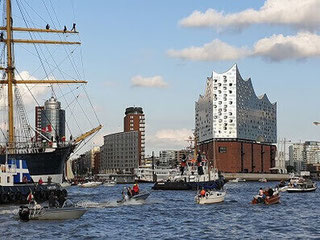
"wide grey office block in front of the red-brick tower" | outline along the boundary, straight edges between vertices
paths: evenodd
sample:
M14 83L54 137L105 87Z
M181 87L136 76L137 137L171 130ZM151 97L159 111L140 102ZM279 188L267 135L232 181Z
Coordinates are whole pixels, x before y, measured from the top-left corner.
M101 146L100 173L129 173L139 166L138 131L104 136Z

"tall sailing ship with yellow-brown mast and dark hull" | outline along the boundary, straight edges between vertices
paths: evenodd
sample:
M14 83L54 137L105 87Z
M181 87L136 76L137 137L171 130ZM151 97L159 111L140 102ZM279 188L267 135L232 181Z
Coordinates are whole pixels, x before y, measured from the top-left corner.
M23 7L22 2L20 2L19 5L19 1L17 1L17 5L22 15L26 15L26 12L21 10ZM3 122L0 122L1 134L4 139L4 142L0 143L0 163L6 161L6 154L9 159L26 160L33 181L37 181L40 177L43 179L51 177L53 182L61 183L64 166L70 155L84 143L88 137L96 134L102 126L99 122L96 127L85 131L78 137L73 138L70 134L69 140L66 140L66 136L59 136L57 124L53 122L50 111L42 109L41 117L43 118L43 122L47 124L44 127L47 127L48 130L36 129L36 126L33 128L28 122L28 112L23 104L23 97L25 95L20 93L19 86L24 86L32 95L31 88L33 86L49 85L52 90L52 96L46 102L46 106L50 108L48 107L50 101L58 103L54 92L54 84L58 84L59 87L61 85L68 85L69 89L71 89L70 91L74 92L75 89L79 87L72 89L72 87L70 87L71 84L84 85L87 81L77 79L57 80L54 77L50 78L48 74L41 80L22 79L20 72L17 71L15 66L14 46L15 44L31 44L34 46L38 44L54 46L79 45L79 41L65 41L65 37L64 39L60 37L58 40L43 40L42 38L35 39L35 35L31 35L31 33L48 33L69 36L78 34L78 32L76 31L75 24L73 24L71 30L67 30L66 26L64 26L63 29L54 29L51 28L49 24L44 28L31 28L28 26L16 27L14 26L11 0L3 1L3 6L5 14L3 26L0 27L0 42L4 45L3 58L5 60L1 62L2 65L0 66L0 70L3 72L3 79L0 80L0 100L4 102L6 106L7 117L3 119ZM24 15L23 19L25 20ZM25 23L27 24L28 22L25 20ZM14 33L28 33L31 39L16 38ZM36 47L35 49L38 55L40 55L39 49ZM48 61L46 59L45 61L41 60L41 66L43 66L44 62ZM61 95L65 98L65 94ZM32 97L35 99L34 95L32 95ZM74 96L74 98L76 99L74 101L77 101L79 96ZM36 99L35 101L38 103ZM71 103L69 103L69 105L70 104ZM69 105L67 106L69 107ZM44 106L44 108L46 108L46 106ZM77 117L78 116L76 116L76 118ZM65 121L63 123L65 124L67 120L63 118L60 119L60 121ZM51 135L50 138L50 135L47 134L50 130L49 128L55 132L55 137ZM40 141L36 140L36 135L40 136Z

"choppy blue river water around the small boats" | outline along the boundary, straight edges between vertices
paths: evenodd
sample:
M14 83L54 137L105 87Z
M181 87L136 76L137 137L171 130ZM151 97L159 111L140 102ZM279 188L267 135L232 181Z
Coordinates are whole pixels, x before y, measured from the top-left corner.
M281 193L281 203L251 205L268 183L227 183L224 203L198 205L193 191L152 191L143 203L118 205L125 185L68 188L88 211L68 221L17 220L0 206L0 239L320 239L320 193ZM151 184L140 184L141 190Z

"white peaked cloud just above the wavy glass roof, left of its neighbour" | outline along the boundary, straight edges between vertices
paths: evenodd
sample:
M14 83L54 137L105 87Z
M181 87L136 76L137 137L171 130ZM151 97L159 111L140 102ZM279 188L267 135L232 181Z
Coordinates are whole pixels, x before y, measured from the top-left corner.
M245 47L237 48L218 39L206 43L201 47L190 47L182 50L169 50L168 55L171 57L189 59L195 61L218 61L234 60L249 54Z

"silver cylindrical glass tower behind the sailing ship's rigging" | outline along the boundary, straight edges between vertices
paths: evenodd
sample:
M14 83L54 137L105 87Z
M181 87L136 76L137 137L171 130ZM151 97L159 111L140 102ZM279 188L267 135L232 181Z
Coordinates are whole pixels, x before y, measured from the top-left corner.
M44 104L41 111L41 129L43 135L52 140L59 140L65 136L65 111L61 109L61 103L51 97Z

